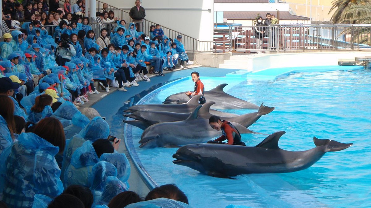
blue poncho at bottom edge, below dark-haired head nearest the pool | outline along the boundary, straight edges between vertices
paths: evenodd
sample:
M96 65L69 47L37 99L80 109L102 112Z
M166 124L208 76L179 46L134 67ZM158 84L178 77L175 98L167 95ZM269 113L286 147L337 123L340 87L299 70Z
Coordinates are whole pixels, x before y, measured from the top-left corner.
M191 206L173 199L157 198L129 204L125 208L191 208Z

